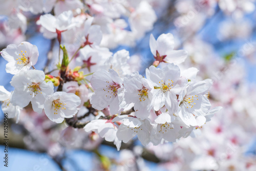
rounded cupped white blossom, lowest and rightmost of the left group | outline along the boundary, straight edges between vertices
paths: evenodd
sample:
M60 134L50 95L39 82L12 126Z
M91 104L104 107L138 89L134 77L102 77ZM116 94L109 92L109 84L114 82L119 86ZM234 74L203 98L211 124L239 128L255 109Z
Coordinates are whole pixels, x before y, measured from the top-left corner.
M80 103L80 98L73 93L55 92L45 100L45 113L51 121L61 123L77 113Z

